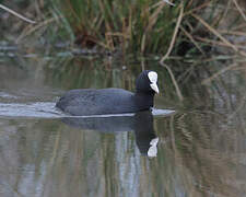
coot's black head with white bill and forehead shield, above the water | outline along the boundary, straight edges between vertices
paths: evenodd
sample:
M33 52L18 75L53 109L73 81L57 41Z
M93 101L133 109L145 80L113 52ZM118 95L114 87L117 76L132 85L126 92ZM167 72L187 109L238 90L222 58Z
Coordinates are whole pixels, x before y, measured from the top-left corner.
M157 73L152 70L141 72L136 81L136 90L139 93L159 93Z

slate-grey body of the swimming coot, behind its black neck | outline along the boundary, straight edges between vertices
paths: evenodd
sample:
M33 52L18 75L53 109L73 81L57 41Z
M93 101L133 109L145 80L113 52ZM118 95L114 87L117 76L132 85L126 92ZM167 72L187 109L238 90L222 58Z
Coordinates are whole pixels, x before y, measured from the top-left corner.
M122 89L82 89L67 92L58 108L75 116L137 112L134 94Z

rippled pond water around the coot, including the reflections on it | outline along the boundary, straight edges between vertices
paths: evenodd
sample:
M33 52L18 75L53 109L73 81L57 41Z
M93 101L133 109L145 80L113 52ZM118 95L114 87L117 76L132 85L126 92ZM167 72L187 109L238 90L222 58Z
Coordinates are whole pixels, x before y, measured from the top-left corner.
M179 80L179 102L166 70L145 68L160 73L152 114L70 117L54 107L63 92L133 90L139 63L2 59L0 196L246 196L244 71Z

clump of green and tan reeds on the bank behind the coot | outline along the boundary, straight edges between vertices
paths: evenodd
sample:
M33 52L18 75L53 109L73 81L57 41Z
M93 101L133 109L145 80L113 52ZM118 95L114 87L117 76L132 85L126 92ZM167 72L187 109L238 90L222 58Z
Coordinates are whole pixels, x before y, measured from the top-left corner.
M179 7L153 0L54 0L82 47L165 53Z

